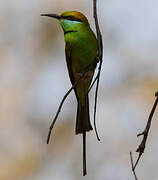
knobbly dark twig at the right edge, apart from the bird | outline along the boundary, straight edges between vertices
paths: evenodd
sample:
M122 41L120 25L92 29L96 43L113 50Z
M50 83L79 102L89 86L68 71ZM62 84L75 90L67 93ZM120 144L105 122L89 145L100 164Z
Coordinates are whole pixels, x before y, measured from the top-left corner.
M138 148L136 150L136 152L139 153L139 156L138 156L137 161L136 161L136 163L134 165L134 169L136 168L142 154L144 153L145 147L146 147L147 137L149 135L149 130L150 130L150 127L151 127L152 117L154 115L155 109L156 109L157 104L158 104L158 92L155 93L155 96L156 96L156 100L155 100L154 105L153 105L153 107L151 109L151 112L150 112L146 127L145 127L145 129L144 129L144 131L142 133L139 133L137 135L137 137L143 136L143 139L142 139L142 142L140 143L140 145L138 146Z

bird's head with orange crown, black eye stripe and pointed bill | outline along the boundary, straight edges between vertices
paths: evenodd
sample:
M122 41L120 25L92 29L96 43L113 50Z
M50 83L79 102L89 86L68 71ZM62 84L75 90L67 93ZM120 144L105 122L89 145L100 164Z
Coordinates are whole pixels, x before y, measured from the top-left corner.
M80 25L89 26L87 18L78 11L66 11L58 14L41 14L41 16L48 16L59 20L64 32L76 30Z

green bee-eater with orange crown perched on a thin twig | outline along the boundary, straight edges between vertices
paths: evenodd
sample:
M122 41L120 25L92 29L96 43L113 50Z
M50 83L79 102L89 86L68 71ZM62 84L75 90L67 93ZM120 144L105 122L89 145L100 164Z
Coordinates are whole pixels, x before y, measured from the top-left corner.
M93 130L89 115L88 90L97 66L98 41L86 16L78 11L41 14L59 21L65 39L68 74L77 99L76 134L83 135L83 176L86 168L86 132ZM83 76L83 77L82 77ZM79 80L80 78L80 80Z

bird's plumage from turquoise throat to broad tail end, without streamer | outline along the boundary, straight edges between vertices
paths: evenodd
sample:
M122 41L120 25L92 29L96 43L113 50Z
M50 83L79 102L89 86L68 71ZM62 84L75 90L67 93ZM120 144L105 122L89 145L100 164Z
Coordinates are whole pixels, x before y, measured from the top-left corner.
M75 88L78 101L76 134L92 130L89 118L88 88L91 84L97 57L97 40L89 24L60 20L65 33L65 53L71 83L81 76L87 67L91 68Z

